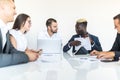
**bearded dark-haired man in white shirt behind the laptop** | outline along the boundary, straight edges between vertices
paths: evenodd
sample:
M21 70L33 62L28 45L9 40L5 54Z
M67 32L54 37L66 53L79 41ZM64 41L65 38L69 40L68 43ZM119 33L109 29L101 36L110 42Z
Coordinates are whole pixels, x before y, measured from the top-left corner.
M38 39L61 39L58 31L57 21L53 18L49 18L46 21L47 30L38 34Z

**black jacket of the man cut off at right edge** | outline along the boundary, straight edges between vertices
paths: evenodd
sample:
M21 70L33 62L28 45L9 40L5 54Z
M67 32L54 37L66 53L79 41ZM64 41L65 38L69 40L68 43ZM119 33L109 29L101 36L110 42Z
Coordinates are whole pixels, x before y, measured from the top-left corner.
M118 61L119 57L120 57L120 33L117 33L115 42L112 46L112 49L110 51L114 51L115 52L115 57L114 60Z

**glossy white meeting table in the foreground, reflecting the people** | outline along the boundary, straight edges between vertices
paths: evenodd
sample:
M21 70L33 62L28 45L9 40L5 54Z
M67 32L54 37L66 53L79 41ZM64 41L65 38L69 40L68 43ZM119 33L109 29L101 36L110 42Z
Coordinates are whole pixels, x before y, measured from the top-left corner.
M120 62L63 53L60 61L38 59L0 68L0 80L120 80Z

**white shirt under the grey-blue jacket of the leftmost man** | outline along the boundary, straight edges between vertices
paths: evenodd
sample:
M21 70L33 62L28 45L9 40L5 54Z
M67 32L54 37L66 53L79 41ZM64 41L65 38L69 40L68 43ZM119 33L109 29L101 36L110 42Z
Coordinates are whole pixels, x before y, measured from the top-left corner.
M6 43L6 33L8 32L8 26L0 19L0 29L2 33L2 48L4 48Z

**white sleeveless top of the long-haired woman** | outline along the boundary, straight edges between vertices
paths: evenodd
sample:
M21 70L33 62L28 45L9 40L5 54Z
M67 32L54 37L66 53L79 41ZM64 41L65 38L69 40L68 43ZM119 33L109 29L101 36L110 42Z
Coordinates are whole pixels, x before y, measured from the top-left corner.
M27 48L27 39L25 37L25 34L23 34L19 30L11 29L10 34L15 38L17 43L17 50L19 51L25 51Z

